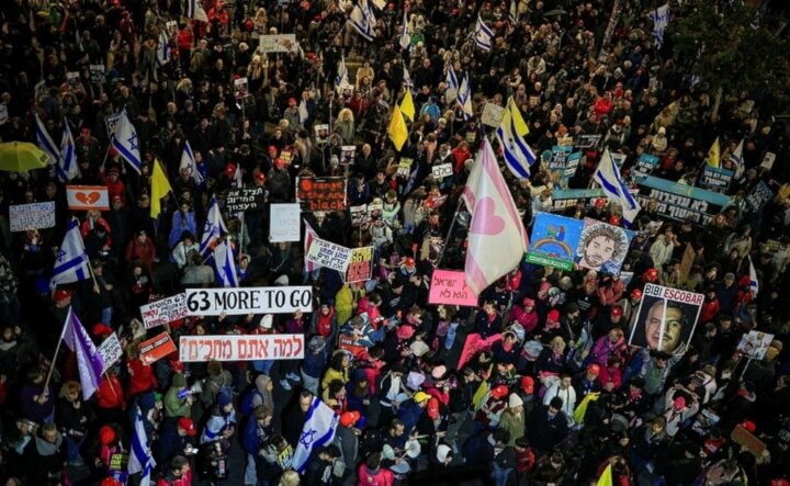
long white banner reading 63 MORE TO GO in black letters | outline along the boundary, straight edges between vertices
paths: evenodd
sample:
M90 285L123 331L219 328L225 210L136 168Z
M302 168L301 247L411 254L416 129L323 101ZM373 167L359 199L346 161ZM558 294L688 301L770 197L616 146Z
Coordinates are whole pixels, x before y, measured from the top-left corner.
M312 286L187 290L190 316L290 314L296 310L313 312Z

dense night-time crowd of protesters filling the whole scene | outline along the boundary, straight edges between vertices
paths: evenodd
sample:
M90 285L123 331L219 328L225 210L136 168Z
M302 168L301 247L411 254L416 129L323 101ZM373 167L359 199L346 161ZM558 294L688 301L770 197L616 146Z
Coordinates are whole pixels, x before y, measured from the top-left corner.
M136 484L125 461L138 409L157 463L151 481L162 486L569 485L607 468L617 485L789 484L790 174L770 93L724 92L719 105L710 80L674 57L670 36L656 45L654 2L371 1L371 42L347 22L354 3L346 0L200 3L205 22L184 16L190 1L0 4L0 136L36 142L38 117L57 143L67 124L79 166L66 183L55 168L0 172L3 484ZM672 14L693 3L672 1ZM494 33L490 50L475 45L478 18ZM298 47L262 53L262 34L295 34ZM350 87L336 90L343 65ZM469 77L470 120L447 93L450 67ZM387 125L406 89L416 115L396 150ZM729 203L689 222L644 201L621 269L629 282L620 271L523 262L476 307L429 304L433 270L464 268L470 215L459 200L484 137L501 156L484 106L510 98L539 156L529 179L503 165L528 231L539 212L623 225L616 201L553 201L592 187L605 149L621 155L629 184L648 154L658 159L652 176L690 187L718 140L734 173ZM122 110L140 173L110 146L106 118ZM600 139L566 180L540 160L585 135ZM742 157L732 157L742 139ZM182 165L187 143L193 169ZM357 147L351 158L347 146ZM402 158L413 159L406 171ZM153 218L155 160L172 191ZM431 168L447 162L452 174L435 179ZM227 191L244 187L262 188L268 203L294 202L297 177L347 178L346 211L302 216L323 239L372 246L371 278L308 271L304 241L269 242L267 205L223 210L240 285L313 285L314 309L185 317L167 331L177 344L190 335L301 334L304 359L182 363L174 352L144 362L139 343L163 329L146 329L139 306L218 285L199 248L211 199L224 208ZM758 183L774 197L754 208L746 196ZM110 208L70 211L66 184L106 187ZM55 203L55 226L11 233L9 206L33 202ZM352 221L348 208L364 204L381 211ZM53 291L71 217L93 278ZM693 261L681 269L688 248ZM648 283L704 294L688 346L629 346ZM123 348L90 399L75 354L55 354L70 310L97 346L115 334ZM752 330L774 336L761 359L736 350ZM314 397L338 428L297 472ZM229 467L234 454L244 470Z

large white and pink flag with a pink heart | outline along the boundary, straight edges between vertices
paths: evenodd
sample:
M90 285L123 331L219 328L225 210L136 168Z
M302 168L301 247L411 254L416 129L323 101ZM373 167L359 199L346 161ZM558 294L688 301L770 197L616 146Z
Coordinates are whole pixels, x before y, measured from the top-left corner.
M477 152L463 192L472 213L467 236L466 284L479 295L515 269L527 252L527 231L488 140Z

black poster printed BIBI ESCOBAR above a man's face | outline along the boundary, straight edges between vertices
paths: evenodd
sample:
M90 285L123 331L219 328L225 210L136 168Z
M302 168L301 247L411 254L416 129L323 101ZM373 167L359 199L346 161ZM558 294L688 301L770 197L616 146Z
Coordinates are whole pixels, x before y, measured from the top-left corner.
M646 284L629 344L670 354L685 352L703 301L702 294Z

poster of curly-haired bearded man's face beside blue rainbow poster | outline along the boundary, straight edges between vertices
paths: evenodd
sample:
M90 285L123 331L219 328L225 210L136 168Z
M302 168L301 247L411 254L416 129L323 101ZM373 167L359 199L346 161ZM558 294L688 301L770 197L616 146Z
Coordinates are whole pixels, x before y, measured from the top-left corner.
M633 231L587 217L576 246L574 262L585 269L617 275L632 237Z

